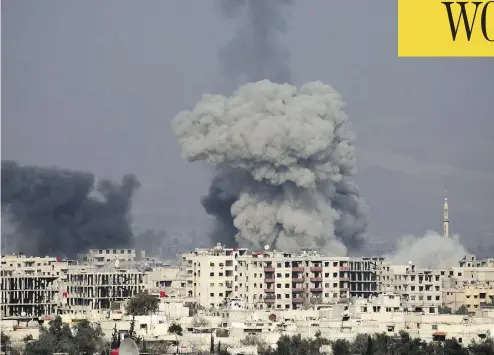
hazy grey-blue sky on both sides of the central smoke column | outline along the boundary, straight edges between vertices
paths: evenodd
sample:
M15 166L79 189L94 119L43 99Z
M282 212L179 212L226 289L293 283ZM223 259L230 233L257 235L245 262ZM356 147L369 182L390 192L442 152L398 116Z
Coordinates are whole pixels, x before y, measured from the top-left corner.
M441 230L494 247L494 60L397 57L396 1L295 1L296 84L339 90L357 132L370 234ZM213 0L3 0L2 158L138 175L136 225L206 235L210 169L171 120L222 81L233 36Z

